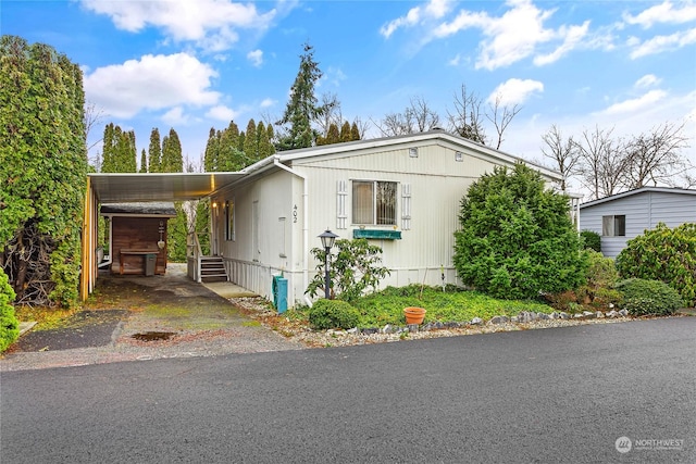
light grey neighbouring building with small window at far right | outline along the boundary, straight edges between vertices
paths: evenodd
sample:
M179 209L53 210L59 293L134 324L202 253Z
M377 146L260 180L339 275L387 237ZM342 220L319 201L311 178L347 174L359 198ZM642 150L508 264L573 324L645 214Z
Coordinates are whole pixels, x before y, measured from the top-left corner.
M626 241L658 223L696 223L696 190L643 187L580 205L581 230L601 236L601 252L616 258Z

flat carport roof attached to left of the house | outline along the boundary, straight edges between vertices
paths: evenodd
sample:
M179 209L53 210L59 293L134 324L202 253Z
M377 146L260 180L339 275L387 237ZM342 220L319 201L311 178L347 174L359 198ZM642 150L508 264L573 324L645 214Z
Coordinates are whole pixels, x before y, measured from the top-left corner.
M244 176L244 173L98 173L89 174L89 179L101 203L121 203L197 200Z

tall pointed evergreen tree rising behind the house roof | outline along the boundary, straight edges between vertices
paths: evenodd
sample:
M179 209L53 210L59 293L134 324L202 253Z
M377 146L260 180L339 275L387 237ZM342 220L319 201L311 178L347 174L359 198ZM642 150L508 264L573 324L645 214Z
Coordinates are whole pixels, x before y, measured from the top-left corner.
M319 68L319 63L314 61L313 47L304 43L303 50L304 53L300 55L299 72L290 88L290 99L283 117L276 123L281 126L289 125L287 134L284 134L278 140L278 150L313 146L316 131L312 128L312 122L324 112L314 95L314 86L323 74Z

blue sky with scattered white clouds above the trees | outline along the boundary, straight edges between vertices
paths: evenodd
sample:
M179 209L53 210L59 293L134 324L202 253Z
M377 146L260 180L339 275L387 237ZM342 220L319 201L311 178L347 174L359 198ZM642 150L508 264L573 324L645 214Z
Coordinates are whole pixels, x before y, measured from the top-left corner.
M539 160L542 135L614 135L686 121L696 162L694 1L15 1L2 34L78 63L87 100L136 131L174 127L198 160L211 127L275 121L302 45L314 47L345 118L380 121L413 98L446 126L462 85L519 104L501 149ZM489 135L492 130L488 130ZM372 124L373 136L378 135ZM98 146L99 147L99 146ZM94 153L92 153L94 154Z

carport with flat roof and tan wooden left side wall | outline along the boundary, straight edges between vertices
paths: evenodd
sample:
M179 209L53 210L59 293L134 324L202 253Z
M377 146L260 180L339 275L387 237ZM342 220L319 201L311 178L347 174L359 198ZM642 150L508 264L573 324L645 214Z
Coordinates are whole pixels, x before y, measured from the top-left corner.
M244 172L88 174L83 217L80 298L87 299L97 281L100 204L200 200L244 176Z

